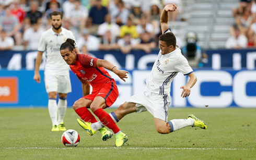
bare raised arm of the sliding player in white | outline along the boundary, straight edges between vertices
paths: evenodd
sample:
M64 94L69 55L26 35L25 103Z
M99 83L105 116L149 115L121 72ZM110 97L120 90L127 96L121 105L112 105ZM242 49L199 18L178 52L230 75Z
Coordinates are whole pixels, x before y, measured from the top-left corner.
M164 34L165 31L169 29L169 27L168 27L168 11L176 11L176 9L177 9L177 6L175 4L166 5L165 8L162 9L162 13L161 13L161 17L160 17L162 34Z

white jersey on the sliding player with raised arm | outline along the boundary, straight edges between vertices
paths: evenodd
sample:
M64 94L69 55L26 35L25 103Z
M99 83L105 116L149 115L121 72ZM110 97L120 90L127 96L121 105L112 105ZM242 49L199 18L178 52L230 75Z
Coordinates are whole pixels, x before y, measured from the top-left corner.
M160 50L150 76L146 80L147 91L169 94L171 82L178 72L182 72L183 75L189 75L193 72L188 60L181 54L179 46L176 45L176 50L165 55L162 55Z

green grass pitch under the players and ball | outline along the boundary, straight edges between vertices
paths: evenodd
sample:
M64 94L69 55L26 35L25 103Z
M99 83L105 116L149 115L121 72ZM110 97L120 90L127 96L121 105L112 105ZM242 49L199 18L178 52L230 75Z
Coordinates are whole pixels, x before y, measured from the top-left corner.
M256 108L170 108L169 120L189 114L208 129L186 127L162 135L148 112L127 115L118 126L129 141L117 148L114 137L104 142L99 132L88 136L68 108L65 125L80 134L80 144L65 147L63 132L50 131L47 108L1 108L0 159L256 159Z

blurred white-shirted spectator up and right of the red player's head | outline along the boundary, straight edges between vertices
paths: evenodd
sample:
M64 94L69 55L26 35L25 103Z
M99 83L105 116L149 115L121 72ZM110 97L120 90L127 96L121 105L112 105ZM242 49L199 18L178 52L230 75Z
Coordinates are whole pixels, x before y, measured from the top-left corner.
M108 14L105 16L105 22L99 25L98 28L98 35L101 37L106 34L107 31L110 31L113 36L116 38L120 34L120 27L118 24L111 22L111 15Z

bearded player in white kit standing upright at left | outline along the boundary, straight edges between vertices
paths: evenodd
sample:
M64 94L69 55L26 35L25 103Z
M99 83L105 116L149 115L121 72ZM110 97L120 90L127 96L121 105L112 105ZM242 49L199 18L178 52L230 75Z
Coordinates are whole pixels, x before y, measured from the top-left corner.
M51 131L65 131L66 128L63 121L67 108L67 93L71 92L71 82L68 65L60 54L60 46L67 38L74 40L75 37L71 31L61 27L63 22L62 13L53 11L50 17L52 28L45 31L40 38L34 80L38 83L41 82L39 67L42 62L43 52L46 51L44 82L49 96L48 109L52 120ZM77 47L76 51L79 53ZM58 103L56 103L57 93L59 93Z

